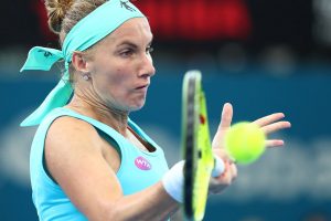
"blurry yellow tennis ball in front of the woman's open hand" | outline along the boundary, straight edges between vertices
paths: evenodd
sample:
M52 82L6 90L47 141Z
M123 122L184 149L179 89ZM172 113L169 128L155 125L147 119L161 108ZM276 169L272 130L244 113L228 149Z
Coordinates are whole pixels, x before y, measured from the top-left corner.
M265 151L266 136L254 123L241 122L233 125L225 135L225 148L238 164L250 164Z

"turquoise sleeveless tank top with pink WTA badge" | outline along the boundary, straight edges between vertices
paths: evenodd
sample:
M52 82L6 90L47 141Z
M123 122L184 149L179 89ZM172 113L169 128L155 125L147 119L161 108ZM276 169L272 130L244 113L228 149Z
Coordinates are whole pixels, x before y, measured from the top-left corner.
M143 151L130 144L122 135L96 119L77 114L68 108L55 108L39 126L30 152L30 176L32 199L40 220L85 221L87 218L71 202L61 187L49 177L44 168L44 141L51 124L61 116L72 116L92 124L107 141L117 147L121 157L117 178L124 194L143 190L156 182L168 171L163 150L148 137L132 120L129 126L154 151ZM102 131L102 133L100 133ZM103 135L102 135L103 134ZM84 177L82 177L84 179Z

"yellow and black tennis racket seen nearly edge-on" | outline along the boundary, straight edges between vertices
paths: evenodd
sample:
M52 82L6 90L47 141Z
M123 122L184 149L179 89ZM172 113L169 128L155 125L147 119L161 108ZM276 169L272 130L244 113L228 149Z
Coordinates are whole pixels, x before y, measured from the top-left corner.
M182 152L185 159L183 211L186 220L202 220L215 160L200 71L184 75L182 88Z

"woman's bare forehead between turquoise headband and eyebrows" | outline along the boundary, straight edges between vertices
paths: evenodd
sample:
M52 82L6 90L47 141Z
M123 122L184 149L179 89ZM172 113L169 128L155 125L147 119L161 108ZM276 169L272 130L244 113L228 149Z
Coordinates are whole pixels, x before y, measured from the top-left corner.
M122 23L105 40L106 42L118 43L121 41L147 41L150 42L152 33L146 18L135 18Z

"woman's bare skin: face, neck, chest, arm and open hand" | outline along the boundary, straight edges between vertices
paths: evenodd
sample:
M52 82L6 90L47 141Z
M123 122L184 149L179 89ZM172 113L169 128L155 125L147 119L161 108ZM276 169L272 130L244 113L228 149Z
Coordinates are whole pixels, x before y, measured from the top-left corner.
M148 21L137 18L125 22L88 53L74 52L75 93L66 106L107 124L145 150L147 147L127 127L129 113L143 106L156 72L149 53L151 41ZM88 81L83 80L84 75L89 76ZM232 106L225 104L213 149L226 162L226 170L212 179L211 192L221 192L237 176L235 164L221 144L232 115ZM274 133L289 127L289 123L278 122L282 117L270 115L257 123L267 134ZM282 140L268 144L278 146ZM45 140L45 160L51 176L88 220L164 220L180 207L161 181L124 196L116 177L120 166L118 152L81 119L64 116L54 120Z

